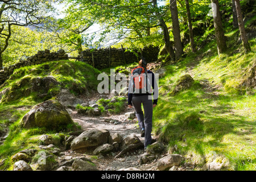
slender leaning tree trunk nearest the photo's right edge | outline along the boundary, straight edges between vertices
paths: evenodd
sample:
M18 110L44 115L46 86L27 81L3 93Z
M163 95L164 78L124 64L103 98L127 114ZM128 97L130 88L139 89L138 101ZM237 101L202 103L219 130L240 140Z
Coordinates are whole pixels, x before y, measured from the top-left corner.
M246 36L245 25L243 24L243 16L242 16L242 11L241 11L240 1L239 0L234 0L234 1L236 2L238 27L239 27L241 39L243 42L243 48L245 49L245 52L248 53L251 51L251 47L248 42L248 38Z

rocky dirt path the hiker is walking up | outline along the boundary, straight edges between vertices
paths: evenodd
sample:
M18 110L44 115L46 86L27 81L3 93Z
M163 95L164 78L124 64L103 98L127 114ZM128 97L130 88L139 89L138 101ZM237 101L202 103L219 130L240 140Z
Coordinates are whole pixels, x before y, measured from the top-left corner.
M105 98L112 96L105 95ZM84 98L83 100L98 100L100 97L99 95L93 97L93 98ZM77 111L74 109L68 109L69 114L71 115L74 122L79 123L81 126L81 129L84 131L92 130L92 129L106 129L110 131L110 134L118 133L122 137L126 135L134 134L136 135L141 142L144 142L144 138L141 137L139 134L139 127L137 119L127 119L125 116L125 113L134 111L134 108L129 108L126 106L125 111L123 111L120 114L117 115L104 115L104 116L91 116L88 117L86 115L77 114ZM106 122L106 121L115 121L115 122ZM152 136L154 137L154 136ZM77 157L86 156L87 158L90 158L93 163L96 164L97 168L99 170L106 170L106 171L115 171L118 169L124 169L124 168L137 168L140 170L156 170L156 160L152 160L151 163L146 164L140 164L139 160L144 155L144 148L136 148L135 150L131 150L129 152L126 152L126 154L122 155L120 158L114 159L114 156L116 156L120 151L118 152L112 152L110 154L107 154L105 156L99 155L97 158L92 155L93 150L78 150L78 151L72 151L68 150L65 151L65 155L61 156L59 160L67 160Z

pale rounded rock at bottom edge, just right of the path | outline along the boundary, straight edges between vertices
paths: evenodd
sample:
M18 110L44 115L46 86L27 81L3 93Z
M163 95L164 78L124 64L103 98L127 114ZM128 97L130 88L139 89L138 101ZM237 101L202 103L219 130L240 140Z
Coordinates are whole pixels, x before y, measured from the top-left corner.
M157 167L160 171L163 171L172 166L180 166L183 160L183 156L179 154L167 155L158 160Z

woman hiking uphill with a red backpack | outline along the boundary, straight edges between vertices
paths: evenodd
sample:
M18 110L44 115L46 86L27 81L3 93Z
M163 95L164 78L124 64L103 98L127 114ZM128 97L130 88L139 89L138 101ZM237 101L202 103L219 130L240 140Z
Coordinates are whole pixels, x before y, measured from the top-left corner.
M131 71L129 81L128 106L134 106L139 121L141 137L144 137L144 149L151 144L153 107L158 102L158 85L155 75L148 69L147 62L142 57L139 66ZM144 113L141 104L143 105Z

